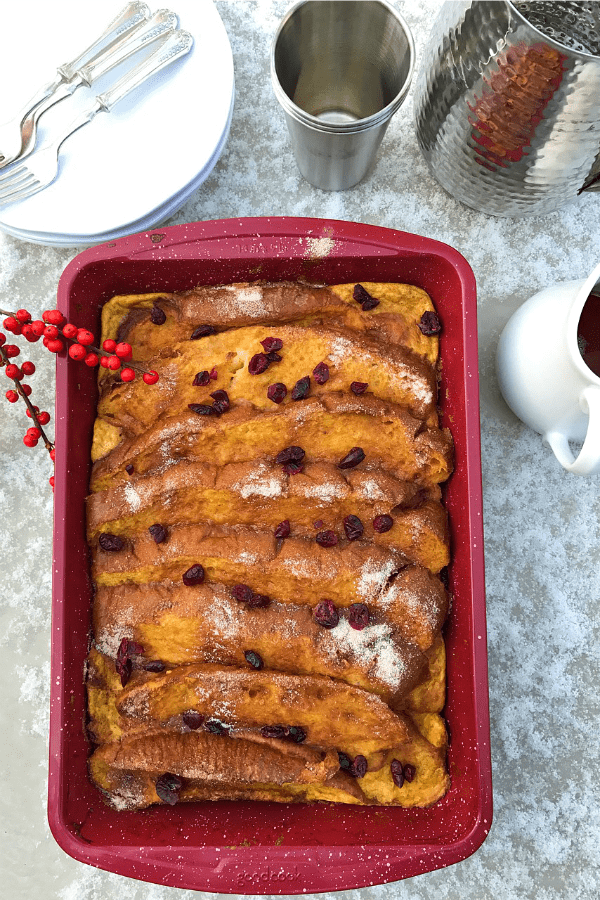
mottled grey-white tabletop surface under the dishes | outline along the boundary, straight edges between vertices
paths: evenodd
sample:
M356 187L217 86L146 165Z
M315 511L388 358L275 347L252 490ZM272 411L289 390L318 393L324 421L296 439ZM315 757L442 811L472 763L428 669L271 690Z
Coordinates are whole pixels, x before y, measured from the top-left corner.
M420 51L441 0L402 9ZM462 208L427 174L411 97L370 179L320 193L295 168L268 71L285 0L217 0L231 39L237 102L210 179L168 224L246 215L324 216L405 229L462 252L478 282L494 823L470 859L344 900L595 900L600 867L600 477L562 471L500 398L504 323L541 287L600 259L600 197L533 220ZM185 123L182 123L184 133ZM0 236L0 306L41 312L75 251ZM39 345L35 402L51 408ZM4 376L0 375L2 379ZM2 393L6 388L3 387ZM69 859L46 825L51 592L49 461L21 444L23 413L0 398L0 895L6 900L192 900ZM208 895L207 895L208 896ZM210 895L217 896L217 895ZM321 895L325 896L325 895ZM332 895L333 896L333 895Z

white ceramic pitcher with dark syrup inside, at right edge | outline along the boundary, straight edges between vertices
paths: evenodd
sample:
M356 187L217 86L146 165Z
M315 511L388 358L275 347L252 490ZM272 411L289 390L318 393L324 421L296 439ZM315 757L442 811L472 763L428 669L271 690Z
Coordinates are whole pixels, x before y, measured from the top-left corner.
M545 288L527 300L502 332L497 373L504 399L543 435L575 475L600 472L600 377L586 364L579 321L590 294L600 294L600 265L581 281ZM600 298L595 329L600 329ZM583 446L575 458L569 441Z

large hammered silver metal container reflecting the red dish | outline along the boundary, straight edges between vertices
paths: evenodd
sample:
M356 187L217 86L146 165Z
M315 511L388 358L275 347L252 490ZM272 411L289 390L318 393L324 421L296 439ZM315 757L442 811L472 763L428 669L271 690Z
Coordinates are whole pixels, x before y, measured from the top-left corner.
M600 188L596 0L447 0L415 88L427 164L496 216L539 215Z

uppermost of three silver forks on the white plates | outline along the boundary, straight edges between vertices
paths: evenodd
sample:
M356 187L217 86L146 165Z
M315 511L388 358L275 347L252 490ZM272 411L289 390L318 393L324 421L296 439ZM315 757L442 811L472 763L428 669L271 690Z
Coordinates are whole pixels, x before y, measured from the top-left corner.
M129 3L77 59L58 67L54 81L41 88L14 118L0 125L0 169L31 152L42 113L70 96L81 84L89 85L85 74L81 76L81 70L91 63L100 62L105 55L112 55L149 17L150 10L145 3L140 0Z

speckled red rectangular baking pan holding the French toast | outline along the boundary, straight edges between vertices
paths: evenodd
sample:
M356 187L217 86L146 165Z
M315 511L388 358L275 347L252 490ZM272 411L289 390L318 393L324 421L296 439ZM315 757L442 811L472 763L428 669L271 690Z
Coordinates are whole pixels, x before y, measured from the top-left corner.
M178 225L79 254L58 304L99 333L114 294L266 279L399 281L424 288L442 322L443 424L456 444L445 488L453 606L445 635L452 785L430 809L218 802L116 812L87 777L84 660L91 589L84 499L96 372L57 360L56 493L48 814L59 845L90 865L158 884L299 894L388 883L465 859L491 826L475 280L437 241L352 222L248 218Z

